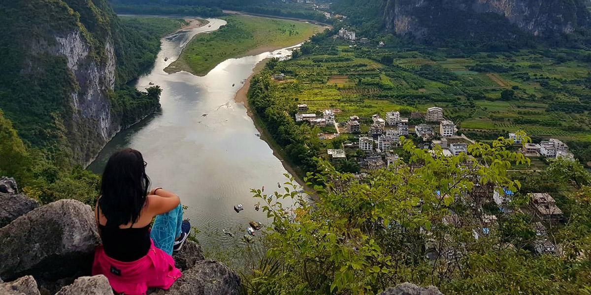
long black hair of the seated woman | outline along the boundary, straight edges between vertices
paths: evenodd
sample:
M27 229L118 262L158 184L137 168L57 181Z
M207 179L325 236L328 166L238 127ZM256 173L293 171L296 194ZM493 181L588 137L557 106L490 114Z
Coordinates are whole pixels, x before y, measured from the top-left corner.
M134 149L113 153L100 183L99 208L107 225L118 227L138 221L144 208L150 179L142 154Z

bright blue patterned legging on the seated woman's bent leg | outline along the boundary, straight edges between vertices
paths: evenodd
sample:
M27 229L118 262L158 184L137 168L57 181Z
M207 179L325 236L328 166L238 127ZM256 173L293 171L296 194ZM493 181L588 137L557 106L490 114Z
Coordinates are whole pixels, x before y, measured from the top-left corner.
M156 217L150 237L154 245L162 251L173 255L174 240L181 234L183 224L183 206L178 206L171 211Z

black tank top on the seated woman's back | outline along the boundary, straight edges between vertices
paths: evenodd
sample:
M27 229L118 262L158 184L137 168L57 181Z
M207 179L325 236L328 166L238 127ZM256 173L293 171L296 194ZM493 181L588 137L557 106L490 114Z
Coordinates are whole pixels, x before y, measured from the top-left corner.
M142 228L119 228L99 224L99 228L105 253L115 260L135 261L150 251L152 241L149 224Z

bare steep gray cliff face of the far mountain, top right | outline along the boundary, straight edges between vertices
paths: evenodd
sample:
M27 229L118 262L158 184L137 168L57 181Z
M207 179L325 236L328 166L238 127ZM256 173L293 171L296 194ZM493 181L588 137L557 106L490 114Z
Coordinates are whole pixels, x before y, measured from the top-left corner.
M491 13L500 17L496 20L505 19L521 31L541 37L569 34L590 22L580 0L387 0L384 7L388 30L417 37L433 34L434 25L448 27L458 21L482 25L479 18Z

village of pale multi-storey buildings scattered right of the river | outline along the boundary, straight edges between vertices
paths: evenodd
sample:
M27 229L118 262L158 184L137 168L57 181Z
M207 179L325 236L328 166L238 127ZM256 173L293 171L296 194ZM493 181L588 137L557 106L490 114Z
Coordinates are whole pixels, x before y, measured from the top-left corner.
M327 109L322 114L316 114L307 113L308 106L306 104L298 104L297 107L296 122L309 123L311 126L319 127L335 126L337 130L335 134L320 133L320 139L334 139L345 135L349 135L348 138L353 139L345 141L341 149L327 149L326 155L333 163L338 163L348 157L353 158L352 160L355 160L361 168L360 173L356 174L358 178L364 178L369 171L398 166L397 162L400 156L395 150L398 149L402 136L413 139L415 145L429 150L431 153L435 153L435 149L441 149L444 156L461 154L469 156L468 146L474 143L468 137L457 134L456 124L444 117L444 109L441 107L430 107L423 114L412 113L411 118L401 117L400 112L392 111L386 113L385 118L379 114L374 114L371 118L351 116L346 122L337 122L335 112L338 110ZM413 122L424 123L412 126L409 124L410 119ZM369 128L369 132L363 133L362 129L367 128ZM522 144L523 136L525 135L509 133L506 138L513 141L515 150L527 157L573 159L568 146L558 139ZM441 199L447 197L441 196L439 192L436 194ZM535 251L538 254L560 254L560 245L556 245L545 235L547 227L554 227L563 221L563 212L557 207L553 197L547 193L529 194L528 198L531 201L527 206L514 207L512 205L513 196L514 192L507 188L476 185L471 192L456 195L453 198L456 202L465 202L470 207L479 208L478 211L482 212L484 212L482 207L485 204L496 204L498 207L496 210L506 214L530 212L535 217L531 223L531 228L537 237ZM444 222L454 227L462 226L462 221L453 212L444 218ZM496 230L495 215L484 214L480 230L474 231L473 235L478 240L479 237L489 235L494 230ZM507 247L512 247L512 245L507 244ZM458 248L437 249L437 245L427 245L427 248L433 248L433 251L437 253L446 251L450 259L462 255L462 250Z

